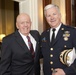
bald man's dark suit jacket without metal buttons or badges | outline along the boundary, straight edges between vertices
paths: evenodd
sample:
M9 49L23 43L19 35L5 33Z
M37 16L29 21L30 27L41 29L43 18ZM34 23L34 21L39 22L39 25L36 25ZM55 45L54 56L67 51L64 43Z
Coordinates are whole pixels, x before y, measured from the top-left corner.
M39 33L30 31L36 40L35 58L24 43L19 32L5 37L2 43L1 75L39 75Z

